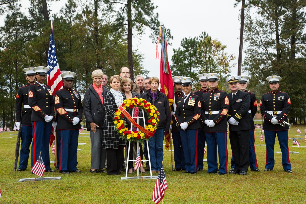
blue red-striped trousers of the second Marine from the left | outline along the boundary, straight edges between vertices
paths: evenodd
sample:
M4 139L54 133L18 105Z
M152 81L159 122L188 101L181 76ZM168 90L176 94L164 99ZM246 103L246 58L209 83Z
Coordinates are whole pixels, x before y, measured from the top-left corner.
M32 122L33 141L31 147L31 168L35 164L40 151L46 171L50 170L49 144L52 122L34 121Z

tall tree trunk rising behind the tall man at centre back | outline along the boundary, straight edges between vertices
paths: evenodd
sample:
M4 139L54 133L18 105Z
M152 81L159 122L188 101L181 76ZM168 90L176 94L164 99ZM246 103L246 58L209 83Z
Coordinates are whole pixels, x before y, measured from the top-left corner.
M131 80L134 81L133 50L132 50L132 0L127 2L128 9L128 61Z

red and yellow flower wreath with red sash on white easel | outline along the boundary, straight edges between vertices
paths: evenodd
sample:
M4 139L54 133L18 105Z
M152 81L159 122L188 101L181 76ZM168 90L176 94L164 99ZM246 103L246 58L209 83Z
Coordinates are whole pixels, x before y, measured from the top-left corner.
M138 125L126 111L126 109L132 109L134 107L143 109L148 113L148 125L145 125L145 128ZM147 102L143 98L130 98L124 100L122 105L119 106L118 110L116 111L114 116L114 127L119 133L120 137L123 139L131 142L140 142L142 144L143 139L148 140L156 132L159 122L158 116L159 112L150 102ZM128 127L126 127L127 123L123 121L123 117L127 117L127 119L131 121L140 131L131 131Z

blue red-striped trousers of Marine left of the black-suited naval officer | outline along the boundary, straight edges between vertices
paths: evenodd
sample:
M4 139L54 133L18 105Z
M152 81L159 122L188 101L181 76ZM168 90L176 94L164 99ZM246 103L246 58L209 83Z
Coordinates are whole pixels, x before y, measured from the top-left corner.
M219 172L227 173L227 134L226 132L205 132L207 144L208 172L217 173L219 153Z

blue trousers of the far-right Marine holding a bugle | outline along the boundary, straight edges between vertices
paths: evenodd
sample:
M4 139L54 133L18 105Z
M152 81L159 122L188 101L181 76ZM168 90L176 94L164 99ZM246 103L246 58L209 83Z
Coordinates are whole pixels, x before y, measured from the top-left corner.
M277 135L279 146L282 151L282 164L283 169L291 169L291 163L289 160L289 147L288 147L288 130L281 131L271 131L265 130L265 141L266 141L266 167L269 169L273 169L274 167L274 144L275 137Z

